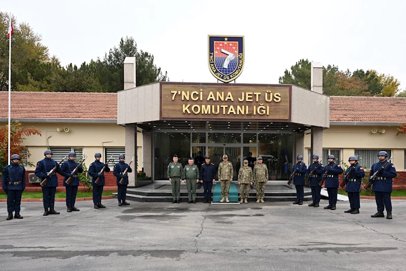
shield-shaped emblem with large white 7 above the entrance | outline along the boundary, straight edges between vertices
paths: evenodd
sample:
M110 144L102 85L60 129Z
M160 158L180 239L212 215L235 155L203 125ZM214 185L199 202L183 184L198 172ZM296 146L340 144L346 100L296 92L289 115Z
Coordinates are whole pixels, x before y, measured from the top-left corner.
M243 67L244 36L209 36L209 68L217 80L231 82Z

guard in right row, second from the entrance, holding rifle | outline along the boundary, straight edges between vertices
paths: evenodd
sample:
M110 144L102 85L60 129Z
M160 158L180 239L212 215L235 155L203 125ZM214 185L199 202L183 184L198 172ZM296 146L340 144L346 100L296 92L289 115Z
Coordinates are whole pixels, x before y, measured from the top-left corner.
M319 162L319 156L313 155L313 164L311 164L307 170L307 176L309 179L309 185L312 189L313 202L309 204L310 207L319 207L321 199L321 186L319 185L322 174L324 172L323 165Z

